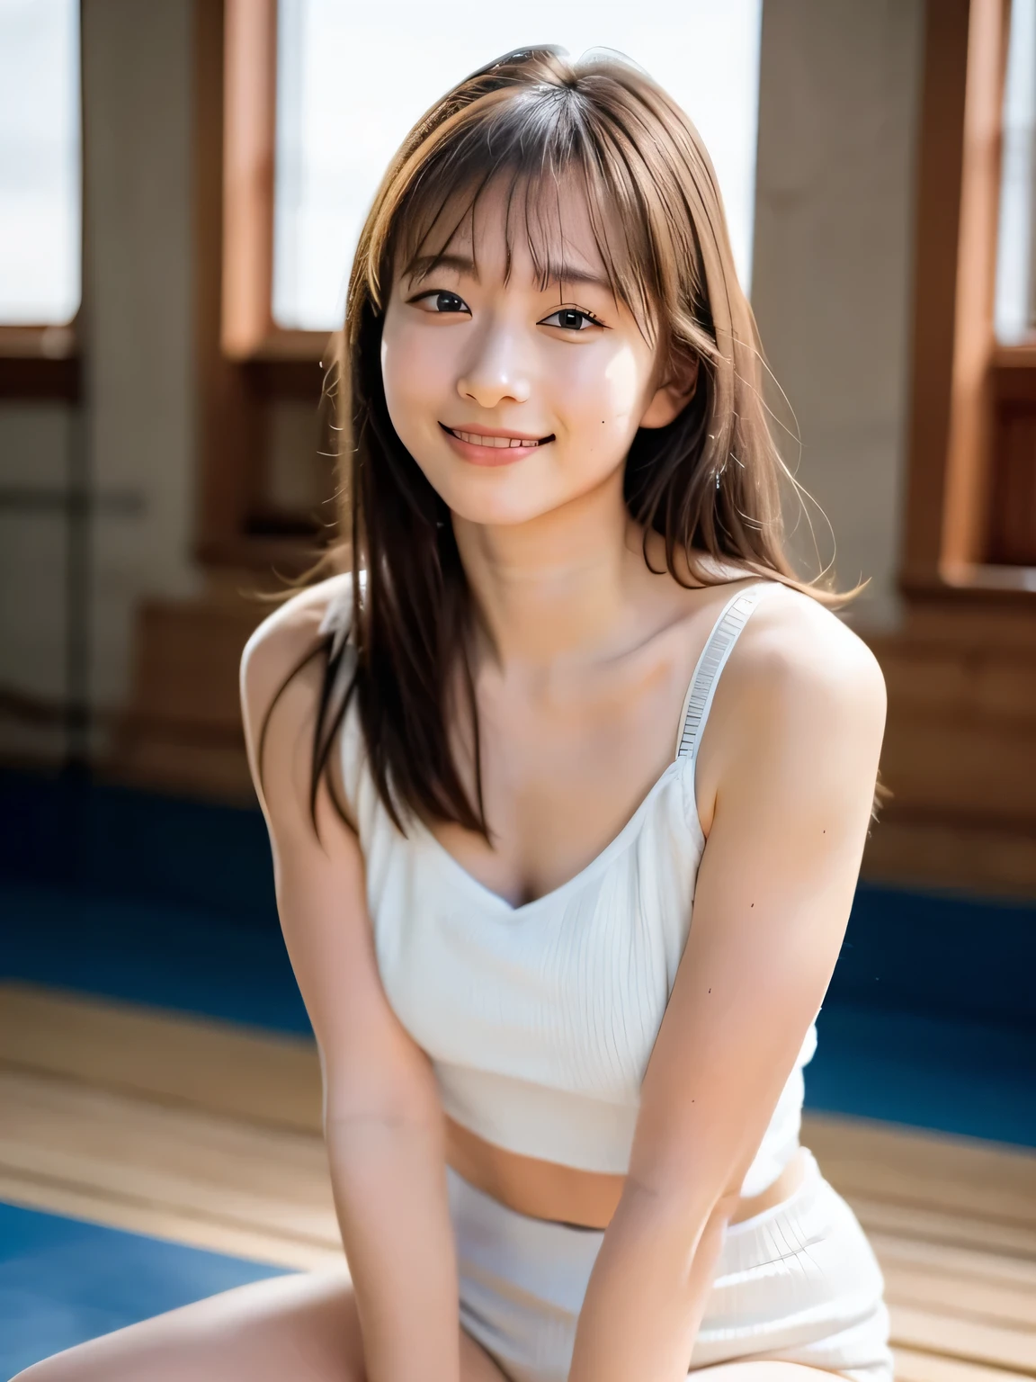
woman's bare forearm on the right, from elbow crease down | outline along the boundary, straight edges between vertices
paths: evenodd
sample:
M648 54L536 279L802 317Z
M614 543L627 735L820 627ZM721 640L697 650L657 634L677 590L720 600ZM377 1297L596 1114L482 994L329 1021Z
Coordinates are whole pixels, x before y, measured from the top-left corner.
M624 1197L590 1277L569 1382L682 1382L725 1224L720 1211L696 1227L664 1198Z

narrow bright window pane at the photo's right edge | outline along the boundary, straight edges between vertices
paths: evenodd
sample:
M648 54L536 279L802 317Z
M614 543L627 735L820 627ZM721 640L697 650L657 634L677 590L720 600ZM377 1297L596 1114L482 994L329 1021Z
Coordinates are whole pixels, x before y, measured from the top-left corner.
M996 254L996 334L1017 346L1033 334L1033 174L1036 174L1036 0L1013 0L1007 50Z

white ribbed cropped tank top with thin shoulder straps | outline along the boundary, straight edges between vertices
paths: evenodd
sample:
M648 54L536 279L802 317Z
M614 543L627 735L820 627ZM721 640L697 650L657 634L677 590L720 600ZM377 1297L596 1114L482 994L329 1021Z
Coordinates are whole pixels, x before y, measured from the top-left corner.
M582 1171L624 1175L640 1089L691 929L704 836L695 757L738 634L771 583L724 605L695 668L675 756L586 868L512 907L478 883L420 821L403 836L366 767L355 698L341 731L381 981L427 1052L442 1107L486 1142ZM323 632L347 636L351 596ZM742 1194L798 1147L811 1025Z

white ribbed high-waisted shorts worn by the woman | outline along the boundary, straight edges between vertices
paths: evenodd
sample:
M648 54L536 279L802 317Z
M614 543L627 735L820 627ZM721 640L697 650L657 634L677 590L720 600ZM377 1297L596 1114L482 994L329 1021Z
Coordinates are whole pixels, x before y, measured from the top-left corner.
M805 1161L789 1200L727 1230L689 1365L772 1359L892 1382L881 1270ZM460 1323L511 1382L565 1382L604 1233L515 1213L449 1168L448 1179Z

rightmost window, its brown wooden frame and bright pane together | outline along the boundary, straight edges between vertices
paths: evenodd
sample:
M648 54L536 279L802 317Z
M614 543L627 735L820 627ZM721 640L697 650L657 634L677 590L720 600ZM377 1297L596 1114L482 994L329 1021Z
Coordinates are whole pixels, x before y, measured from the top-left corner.
M1033 10L925 10L902 567L914 601L1036 590Z

